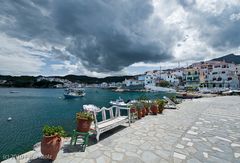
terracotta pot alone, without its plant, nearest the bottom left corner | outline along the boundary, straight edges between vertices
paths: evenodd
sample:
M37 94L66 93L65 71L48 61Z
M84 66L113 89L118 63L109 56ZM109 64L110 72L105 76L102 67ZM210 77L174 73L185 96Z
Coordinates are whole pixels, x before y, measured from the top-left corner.
M61 147L61 137L58 135L43 136L41 153L46 159L55 160Z

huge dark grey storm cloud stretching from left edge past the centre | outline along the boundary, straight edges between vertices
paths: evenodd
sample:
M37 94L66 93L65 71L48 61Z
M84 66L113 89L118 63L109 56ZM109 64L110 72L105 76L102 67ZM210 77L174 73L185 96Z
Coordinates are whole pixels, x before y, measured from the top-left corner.
M170 59L175 36L149 24L151 0L2 1L1 15L13 19L0 28L12 37L64 43L66 50L94 71L119 71L136 62ZM162 33L151 33L159 28Z

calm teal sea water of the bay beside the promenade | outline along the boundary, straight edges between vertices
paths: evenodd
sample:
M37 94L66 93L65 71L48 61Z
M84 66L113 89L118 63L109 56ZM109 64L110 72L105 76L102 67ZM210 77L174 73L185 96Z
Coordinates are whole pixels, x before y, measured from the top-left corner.
M84 104L102 107L109 106L109 101L118 97L128 100L141 95L149 98L166 95L87 88L85 97L64 99L63 92L63 89L0 88L0 160L7 155L31 150L41 140L45 124L61 125L71 133L75 128L75 113ZM7 121L8 117L12 117L12 121Z

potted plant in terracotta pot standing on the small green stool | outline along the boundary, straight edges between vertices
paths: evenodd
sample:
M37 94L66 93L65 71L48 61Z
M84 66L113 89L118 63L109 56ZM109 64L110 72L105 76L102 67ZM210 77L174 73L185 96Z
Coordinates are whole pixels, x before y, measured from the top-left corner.
M79 132L88 132L92 121L94 120L93 115L90 112L78 112L76 114L76 119L77 131Z

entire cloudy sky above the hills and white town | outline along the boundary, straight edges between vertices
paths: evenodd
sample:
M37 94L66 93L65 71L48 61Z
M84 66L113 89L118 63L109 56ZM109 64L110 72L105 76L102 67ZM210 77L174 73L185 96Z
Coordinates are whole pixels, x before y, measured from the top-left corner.
M229 53L240 0L0 0L1 75L133 75Z

